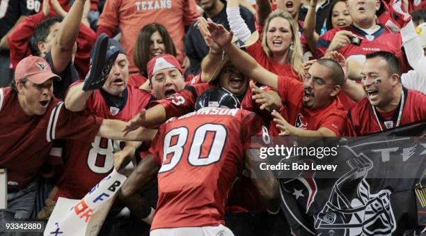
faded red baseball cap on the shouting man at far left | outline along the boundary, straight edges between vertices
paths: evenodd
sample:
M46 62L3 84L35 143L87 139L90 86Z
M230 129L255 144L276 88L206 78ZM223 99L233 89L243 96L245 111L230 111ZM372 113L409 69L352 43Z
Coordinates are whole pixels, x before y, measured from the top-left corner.
M22 78L29 79L34 84L42 84L51 78L61 80L61 77L52 72L49 63L40 56L27 56L19 61L15 70L15 81Z

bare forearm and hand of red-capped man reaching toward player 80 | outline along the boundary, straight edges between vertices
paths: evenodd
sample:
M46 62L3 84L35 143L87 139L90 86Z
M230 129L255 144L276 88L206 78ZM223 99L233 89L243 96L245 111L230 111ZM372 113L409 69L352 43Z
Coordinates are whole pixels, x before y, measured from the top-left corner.
M155 134L157 134L157 129L145 127L139 127L131 132L124 133L122 130L125 127L126 123L121 120L105 119L102 121L97 135L113 140L150 142L154 139Z

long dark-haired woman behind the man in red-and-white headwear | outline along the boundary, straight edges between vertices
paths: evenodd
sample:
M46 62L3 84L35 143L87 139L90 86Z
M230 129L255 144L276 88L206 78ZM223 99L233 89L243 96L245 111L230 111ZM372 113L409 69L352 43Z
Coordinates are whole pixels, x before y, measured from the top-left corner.
M176 56L176 48L166 28L158 23L143 26L139 31L134 50L133 61L139 72L129 77L128 84L140 87L148 80L146 65L148 61L159 54Z

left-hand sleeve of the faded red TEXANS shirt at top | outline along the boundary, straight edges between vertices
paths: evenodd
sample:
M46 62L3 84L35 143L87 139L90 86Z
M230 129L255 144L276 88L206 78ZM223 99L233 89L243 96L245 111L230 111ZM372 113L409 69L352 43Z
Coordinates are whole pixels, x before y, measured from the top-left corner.
M118 13L119 6L122 4L121 0L110 0L105 2L104 9L100 15L97 25L97 35L101 33L107 33L109 37L113 36L113 33L116 32L118 28ZM107 28L107 29L105 29Z

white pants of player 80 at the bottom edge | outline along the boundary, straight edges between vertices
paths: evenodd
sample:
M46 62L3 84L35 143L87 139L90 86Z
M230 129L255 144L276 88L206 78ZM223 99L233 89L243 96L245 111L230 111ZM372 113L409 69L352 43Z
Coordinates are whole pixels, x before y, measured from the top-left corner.
M180 228L157 228L152 230L150 236L234 236L226 226L201 226Z

